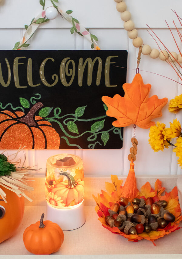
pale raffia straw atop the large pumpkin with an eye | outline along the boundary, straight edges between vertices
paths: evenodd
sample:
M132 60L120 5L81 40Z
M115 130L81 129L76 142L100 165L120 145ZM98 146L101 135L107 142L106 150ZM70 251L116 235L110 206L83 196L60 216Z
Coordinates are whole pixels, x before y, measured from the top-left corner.
M14 164L16 167L16 172L11 172L11 175L9 176L0 176L0 186L5 187L8 190L11 190L12 192L16 193L18 195L18 197L25 197L27 200L32 201L31 198L29 198L24 191L33 191L34 188L29 186L26 181L30 181L28 178L29 177L34 177L33 175L29 174L29 172L32 171L37 171L40 169L33 169L30 166L24 166L25 164L25 160L26 160L26 156L25 159L21 165L21 158L18 158L17 155L20 151L22 151L24 147L19 147L18 151L15 152L14 154L8 155L8 162ZM5 150L7 152L7 150ZM4 152L5 152L4 151ZM4 152L2 152L1 154L3 154ZM8 153L8 152L7 152ZM2 197L2 199L7 203L6 200L6 193L0 188L0 195Z

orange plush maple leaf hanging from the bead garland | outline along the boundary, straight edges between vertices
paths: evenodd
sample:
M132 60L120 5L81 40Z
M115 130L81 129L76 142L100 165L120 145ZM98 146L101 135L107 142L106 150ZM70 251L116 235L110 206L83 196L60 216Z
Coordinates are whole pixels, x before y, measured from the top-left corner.
M158 99L157 95L148 97L150 84L144 84L141 75L135 75L132 83L123 84L124 97L119 94L113 98L103 96L102 101L107 105L106 114L115 117L115 127L126 127L136 124L140 128L150 128L155 122L151 120L162 116L162 108L167 104L167 98Z

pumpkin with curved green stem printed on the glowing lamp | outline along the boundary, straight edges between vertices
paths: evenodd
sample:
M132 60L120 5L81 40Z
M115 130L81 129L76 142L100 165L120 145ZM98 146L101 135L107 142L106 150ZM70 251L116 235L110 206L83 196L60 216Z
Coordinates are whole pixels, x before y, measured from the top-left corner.
M73 176L66 172L59 173L68 178L68 182L56 184L52 190L54 195L61 197L62 203L66 206L72 206L80 203L84 198L84 181L75 180Z

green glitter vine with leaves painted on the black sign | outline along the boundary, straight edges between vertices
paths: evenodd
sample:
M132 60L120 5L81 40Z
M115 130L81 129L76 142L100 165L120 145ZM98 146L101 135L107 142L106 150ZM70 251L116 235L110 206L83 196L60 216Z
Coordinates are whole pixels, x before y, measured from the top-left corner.
M34 95L35 96L32 96L30 98L30 102L29 100L20 97L19 98L20 104L24 108L31 109L31 104L35 105L36 101L41 99L41 94L36 93ZM11 105L12 107L12 104L7 104L7 105ZM7 107L7 105L5 105L5 107ZM2 107L0 103L0 108L3 109L5 107ZM87 141L92 142L88 144L89 149L94 149L97 144L100 146L103 146L103 145L105 146L110 138L110 132L113 132L114 134L118 134L120 139L123 140L121 128L116 128L113 126L109 130L104 130L104 122L105 122L105 118L107 117L106 114L102 116L98 116L96 118L82 119L81 117L84 115L86 107L87 105L80 106L76 108L75 113L64 114L62 116L60 116L61 108L59 107L56 107L56 108L42 107L41 109L39 109L38 115L40 117L43 117L48 122L56 122L60 130L64 133L64 136L60 136L60 138L65 140L68 146L82 149L82 147L80 147L77 144L71 144L69 142L69 139L77 139L77 138L83 137L85 134L87 135L89 134L89 136L87 137ZM105 104L103 105L103 108L105 111L107 111L108 109ZM13 110L21 109L24 111L22 107L16 107L16 108L12 107L12 109ZM52 117L48 117L50 113L53 115ZM93 124L90 126L90 129L82 133L79 132L77 127L77 122L92 122L92 121L93 121ZM72 135L71 133L74 133L75 135ZM101 144L101 142L98 141L98 138L102 140L103 144Z

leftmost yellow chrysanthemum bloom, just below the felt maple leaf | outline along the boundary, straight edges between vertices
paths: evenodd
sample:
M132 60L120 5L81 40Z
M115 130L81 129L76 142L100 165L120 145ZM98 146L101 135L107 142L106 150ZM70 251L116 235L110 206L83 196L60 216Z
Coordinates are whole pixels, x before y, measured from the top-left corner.
M167 137L167 130L169 128L165 128L165 126L164 123L157 122L157 126L150 127L149 144L154 152L163 151L164 147L168 148L169 143L167 140L170 140L170 138Z

